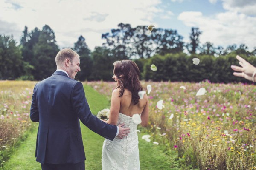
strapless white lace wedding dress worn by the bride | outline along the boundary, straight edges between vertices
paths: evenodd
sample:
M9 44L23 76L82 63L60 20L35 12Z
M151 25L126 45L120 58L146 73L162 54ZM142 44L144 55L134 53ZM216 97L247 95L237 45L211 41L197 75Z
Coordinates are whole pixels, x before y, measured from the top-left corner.
M132 117L119 113L117 125L125 123L130 133L123 139L105 139L102 148L102 170L140 170L137 124Z

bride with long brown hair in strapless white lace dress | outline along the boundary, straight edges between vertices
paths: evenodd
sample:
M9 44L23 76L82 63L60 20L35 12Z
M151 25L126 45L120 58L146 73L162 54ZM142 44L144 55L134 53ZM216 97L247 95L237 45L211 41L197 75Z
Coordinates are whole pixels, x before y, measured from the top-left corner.
M108 124L130 128L130 133L123 139L113 141L105 139L102 148L102 170L140 170L137 124L132 120L134 114L140 114L141 125L148 124L148 96L140 99L142 91L139 80L139 68L130 60L113 63L113 79L117 87L112 92Z

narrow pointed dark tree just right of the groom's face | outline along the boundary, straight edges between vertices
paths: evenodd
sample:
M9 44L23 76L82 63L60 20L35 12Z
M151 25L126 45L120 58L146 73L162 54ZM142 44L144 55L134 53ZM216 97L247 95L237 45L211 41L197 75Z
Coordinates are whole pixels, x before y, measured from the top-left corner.
M73 50L76 51L76 53L80 56L81 71L79 74L77 74L76 79L79 79L80 81L89 79L93 68L93 60L90 55L90 49L88 48L83 36L78 38Z

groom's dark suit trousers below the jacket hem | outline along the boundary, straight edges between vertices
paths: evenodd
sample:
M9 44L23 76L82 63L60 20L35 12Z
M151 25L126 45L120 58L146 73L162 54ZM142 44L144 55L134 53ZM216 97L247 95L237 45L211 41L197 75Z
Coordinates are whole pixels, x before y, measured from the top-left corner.
M41 164L42 170L85 170L84 161L76 164Z

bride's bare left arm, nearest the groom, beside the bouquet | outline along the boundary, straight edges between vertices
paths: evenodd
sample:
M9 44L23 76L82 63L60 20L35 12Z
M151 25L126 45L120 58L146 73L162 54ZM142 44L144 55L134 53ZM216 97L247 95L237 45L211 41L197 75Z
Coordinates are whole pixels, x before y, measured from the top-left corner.
M119 88L117 88L112 92L109 119L106 121L106 123L116 125L119 116L120 105L121 97L119 97Z

